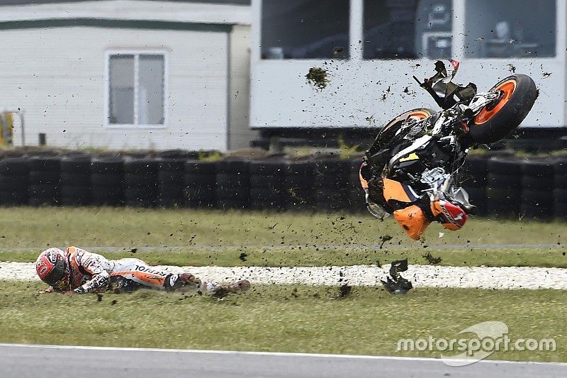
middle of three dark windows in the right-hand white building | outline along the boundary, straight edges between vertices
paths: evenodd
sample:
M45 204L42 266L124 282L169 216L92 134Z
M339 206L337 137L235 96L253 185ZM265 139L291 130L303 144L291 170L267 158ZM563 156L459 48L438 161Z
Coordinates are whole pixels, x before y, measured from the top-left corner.
M449 59L451 0L364 0L364 59Z

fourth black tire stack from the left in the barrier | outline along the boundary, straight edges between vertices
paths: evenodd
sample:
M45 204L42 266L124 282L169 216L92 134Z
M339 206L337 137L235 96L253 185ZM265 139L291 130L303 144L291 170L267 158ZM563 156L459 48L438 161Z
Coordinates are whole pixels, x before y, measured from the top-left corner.
M90 172L92 204L124 204L124 160L121 157L95 157L91 160Z

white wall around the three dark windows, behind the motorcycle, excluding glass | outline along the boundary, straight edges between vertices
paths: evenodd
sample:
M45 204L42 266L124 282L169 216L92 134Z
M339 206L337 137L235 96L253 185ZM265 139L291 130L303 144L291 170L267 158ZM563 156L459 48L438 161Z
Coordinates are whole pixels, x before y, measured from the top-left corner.
M361 0L351 0L360 8ZM471 0L468 0L471 1ZM437 109L429 94L417 86L412 75L423 79L434 73L431 60L361 60L351 48L351 60L261 60L261 0L252 1L252 109L250 125L276 127L380 126L407 109L430 106ZM529 74L540 96L523 126L565 126L566 107L566 2L557 1L556 51L553 58L465 59L463 20L465 1L454 0L453 55L461 60L455 82L473 82L479 91L490 89L511 74ZM361 18L351 18L351 33L359 33ZM315 91L305 82L310 67L330 73L330 85ZM551 72L551 76L544 76ZM405 89L409 93L405 93ZM369 122L366 118L374 120Z

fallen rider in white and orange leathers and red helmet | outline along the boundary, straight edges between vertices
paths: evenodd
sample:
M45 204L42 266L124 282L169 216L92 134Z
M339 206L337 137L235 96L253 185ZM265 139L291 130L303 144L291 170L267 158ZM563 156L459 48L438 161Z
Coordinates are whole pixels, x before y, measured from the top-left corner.
M102 255L77 247L69 247L64 251L59 248L44 250L35 262L35 271L43 282L50 285L45 290L46 293L120 293L145 287L165 291L196 289L204 294L224 296L246 291L250 287L245 279L222 285L201 281L191 273L164 272L139 259L108 260Z

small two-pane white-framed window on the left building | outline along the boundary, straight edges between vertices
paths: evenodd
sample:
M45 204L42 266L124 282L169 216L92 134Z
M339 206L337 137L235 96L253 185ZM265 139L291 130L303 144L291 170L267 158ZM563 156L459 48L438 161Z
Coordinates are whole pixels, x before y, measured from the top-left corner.
M165 125L165 55L111 53L107 78L109 126Z

